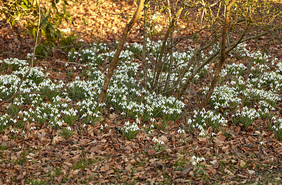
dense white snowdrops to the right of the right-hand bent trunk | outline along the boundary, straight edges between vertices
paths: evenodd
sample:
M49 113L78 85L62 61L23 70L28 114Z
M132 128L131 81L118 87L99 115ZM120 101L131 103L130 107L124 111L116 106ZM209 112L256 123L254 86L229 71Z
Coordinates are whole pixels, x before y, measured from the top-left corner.
M221 71L221 77L229 81L214 88L210 102L215 109L240 107L242 98L244 98L244 106L252 105L250 102L257 102L258 104L252 105L249 109L242 107L242 111L238 110L233 115L235 122L239 121L240 117L240 121L252 123L259 114L263 118L266 117L269 111L274 110L276 102L281 100L278 93L282 88L282 75L279 69L270 71L267 65L269 55L261 52L250 53L245 49L245 44L240 44L236 51L240 56L245 56L252 61L249 76L246 79L243 77L247 68L243 64L227 64L226 69ZM277 59L272 60L272 64L276 61ZM279 68L282 64L278 63L276 66ZM235 77L230 78L230 75ZM204 88L203 93L206 94L207 90L209 88Z

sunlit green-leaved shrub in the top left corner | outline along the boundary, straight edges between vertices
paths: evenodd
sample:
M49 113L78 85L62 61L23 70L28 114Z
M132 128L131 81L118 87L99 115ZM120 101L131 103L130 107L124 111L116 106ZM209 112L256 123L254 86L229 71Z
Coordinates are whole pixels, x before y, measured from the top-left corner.
M65 35L58 29L63 20L71 21L71 13L66 9L69 1L75 0L61 0L61 3L60 0L8 0L2 2L0 13L4 15L6 22L10 25L20 25L24 35L28 32L36 38L39 30L39 34L46 41L37 46L35 54L48 56L51 48L56 48L54 44L56 41L62 40L60 45L69 44L66 42Z

